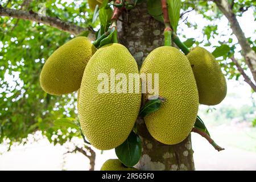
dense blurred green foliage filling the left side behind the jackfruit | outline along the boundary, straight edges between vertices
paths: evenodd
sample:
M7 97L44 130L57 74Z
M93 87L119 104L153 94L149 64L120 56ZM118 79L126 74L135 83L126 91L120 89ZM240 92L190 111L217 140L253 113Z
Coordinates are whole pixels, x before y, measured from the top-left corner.
M19 9L23 1L11 1L7 8ZM46 14L80 26L92 24L93 13L86 1L42 1ZM32 1L28 10L38 12L40 2ZM6 2L3 2L3 6ZM63 144L80 130L54 125L64 117L77 117L76 97L50 96L43 92L39 75L46 59L55 49L73 38L56 28L29 20L3 17L0 19L0 143L22 142L28 134L42 130L49 142ZM52 137L58 134L57 137Z

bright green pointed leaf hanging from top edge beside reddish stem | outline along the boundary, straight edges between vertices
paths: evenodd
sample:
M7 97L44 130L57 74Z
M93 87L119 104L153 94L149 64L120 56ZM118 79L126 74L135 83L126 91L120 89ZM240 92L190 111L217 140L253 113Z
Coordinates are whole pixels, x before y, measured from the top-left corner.
M172 29L174 32L177 31L177 26L180 19L180 9L181 1L180 0L167 0L168 5L168 14L171 22Z

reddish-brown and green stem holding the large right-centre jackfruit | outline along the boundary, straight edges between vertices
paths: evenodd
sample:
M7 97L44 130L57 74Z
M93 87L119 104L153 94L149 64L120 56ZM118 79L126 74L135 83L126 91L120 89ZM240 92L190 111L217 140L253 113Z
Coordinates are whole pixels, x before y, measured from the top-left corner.
M164 29L164 46L172 46L172 28L168 15L166 0L161 0L161 3L164 16L164 26L166 26Z

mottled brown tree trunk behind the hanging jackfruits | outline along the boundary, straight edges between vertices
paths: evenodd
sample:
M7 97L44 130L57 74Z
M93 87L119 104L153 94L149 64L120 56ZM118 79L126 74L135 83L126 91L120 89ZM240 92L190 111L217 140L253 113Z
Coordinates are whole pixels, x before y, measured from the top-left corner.
M125 45L141 68L143 60L153 49L163 46L164 24L147 13L146 3L122 14L118 23L119 42ZM137 119L138 134L142 139L141 170L195 170L191 136L176 145L156 141L147 131L143 119Z

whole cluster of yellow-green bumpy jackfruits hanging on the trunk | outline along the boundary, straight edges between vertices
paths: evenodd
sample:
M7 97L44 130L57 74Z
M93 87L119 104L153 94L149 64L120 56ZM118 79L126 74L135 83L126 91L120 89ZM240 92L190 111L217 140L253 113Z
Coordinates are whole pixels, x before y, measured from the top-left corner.
M121 73L111 78L112 70ZM220 65L206 49L196 47L187 56L174 47L154 49L138 65L125 46L107 44L99 49L85 37L77 37L58 48L48 58L40 74L40 85L49 94L78 90L77 108L82 133L99 150L121 145L129 136L141 105L151 96L117 93L115 85L130 74L159 75L159 95L165 98L159 110L146 115L149 133L161 143L177 144L188 137L195 124L199 104L216 105L226 96L226 81ZM110 76L110 77L109 77ZM99 80L106 79L104 92ZM152 80L152 85L154 81ZM114 88L113 86L114 85ZM129 81L122 82L129 88ZM122 90L122 89L121 89ZM143 96L143 97L142 97ZM117 159L108 160L102 170L125 168Z

